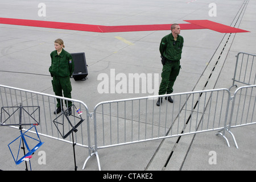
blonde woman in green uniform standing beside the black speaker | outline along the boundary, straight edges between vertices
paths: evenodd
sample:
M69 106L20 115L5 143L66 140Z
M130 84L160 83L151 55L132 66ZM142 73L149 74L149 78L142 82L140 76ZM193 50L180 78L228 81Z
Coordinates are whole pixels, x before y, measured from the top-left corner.
M52 86L53 92L55 92L56 96L61 96L71 98L71 81L70 77L74 71L74 61L70 53L65 51L63 48L64 43L61 39L56 39L55 43L55 51L52 51L50 56L52 59L51 67L49 67L49 72L51 73L52 79ZM62 94L63 90L63 94ZM68 114L71 115L72 113L72 102L66 101L66 107L68 108ZM61 110L63 110L63 100L57 98L57 109L54 111L54 114L59 114Z

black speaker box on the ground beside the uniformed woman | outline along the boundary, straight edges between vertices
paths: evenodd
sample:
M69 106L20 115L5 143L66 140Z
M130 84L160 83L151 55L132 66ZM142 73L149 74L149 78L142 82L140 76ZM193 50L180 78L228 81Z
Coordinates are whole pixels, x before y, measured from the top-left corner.
M74 80L82 80L88 75L87 65L85 60L85 53L71 53L71 56L74 61L74 71L73 71L73 78Z

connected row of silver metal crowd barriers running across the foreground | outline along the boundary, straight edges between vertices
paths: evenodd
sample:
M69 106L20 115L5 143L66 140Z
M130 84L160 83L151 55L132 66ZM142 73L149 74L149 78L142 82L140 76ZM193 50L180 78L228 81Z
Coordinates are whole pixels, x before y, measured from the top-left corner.
M228 146L226 131L236 143L230 129L256 123L255 89L256 85L242 86L233 97L228 89L212 89L100 102L94 107L94 127L90 128L92 114L84 102L0 85L0 126L18 126L20 112L16 110L22 106L24 129L38 123L36 127L40 135L68 143L72 143L70 132L77 129L75 142L88 148L89 153L82 169L93 155L96 155L101 169L98 149L107 147L217 130L216 135L224 137ZM165 100L168 96L174 103ZM156 106L158 97L163 98L160 106ZM72 101L72 115L64 114L67 109L58 115L53 114L56 98L63 103ZM91 133L94 133L94 146Z

